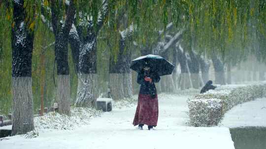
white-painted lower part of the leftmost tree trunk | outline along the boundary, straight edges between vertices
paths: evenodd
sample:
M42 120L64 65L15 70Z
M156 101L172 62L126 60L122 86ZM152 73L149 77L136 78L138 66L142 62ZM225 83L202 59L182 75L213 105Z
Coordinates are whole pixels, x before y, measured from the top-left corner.
M12 134L24 134L34 129L32 77L12 77Z

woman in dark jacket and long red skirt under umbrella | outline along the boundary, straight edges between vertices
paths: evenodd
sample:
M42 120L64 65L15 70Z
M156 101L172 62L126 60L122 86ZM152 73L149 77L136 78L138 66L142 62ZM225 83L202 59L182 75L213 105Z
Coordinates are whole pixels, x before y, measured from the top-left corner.
M138 125L142 130L144 124L151 130L158 122L158 97L155 82L160 81L160 76L150 70L146 65L137 75L137 83L140 84L138 102L133 125Z

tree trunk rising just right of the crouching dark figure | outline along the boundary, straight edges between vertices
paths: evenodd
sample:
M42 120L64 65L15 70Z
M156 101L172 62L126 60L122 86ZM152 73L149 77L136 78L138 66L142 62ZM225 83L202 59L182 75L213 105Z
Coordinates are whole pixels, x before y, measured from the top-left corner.
M224 64L221 62L220 59L218 59L215 53L212 54L211 60L215 70L215 83L225 85L226 83L225 83Z

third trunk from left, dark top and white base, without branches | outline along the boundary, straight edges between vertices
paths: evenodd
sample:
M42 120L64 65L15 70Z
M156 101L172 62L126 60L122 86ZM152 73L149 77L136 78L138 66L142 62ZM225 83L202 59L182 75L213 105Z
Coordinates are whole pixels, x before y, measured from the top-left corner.
M97 99L97 36L90 34L79 54L76 106L93 106Z

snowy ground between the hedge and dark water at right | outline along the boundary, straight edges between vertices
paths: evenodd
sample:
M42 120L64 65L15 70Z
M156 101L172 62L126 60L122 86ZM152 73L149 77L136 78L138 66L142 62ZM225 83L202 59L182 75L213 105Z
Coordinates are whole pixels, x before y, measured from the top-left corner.
M220 126L230 128L244 126L266 127L266 98L255 99L234 106L225 114Z

